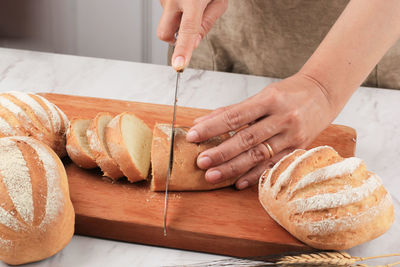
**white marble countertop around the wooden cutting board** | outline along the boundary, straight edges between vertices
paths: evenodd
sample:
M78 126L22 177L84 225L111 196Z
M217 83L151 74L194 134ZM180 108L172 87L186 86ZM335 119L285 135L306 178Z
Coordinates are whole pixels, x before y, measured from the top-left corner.
M190 69L182 80L178 104L209 109L242 101L274 81ZM174 83L175 72L165 66L0 48L0 92L55 92L170 104ZM395 202L392 228L349 252L355 256L400 253L400 90L360 88L335 123L357 130L356 155L382 177ZM224 258L74 236L57 255L28 266L165 266ZM391 261L380 261L387 262Z

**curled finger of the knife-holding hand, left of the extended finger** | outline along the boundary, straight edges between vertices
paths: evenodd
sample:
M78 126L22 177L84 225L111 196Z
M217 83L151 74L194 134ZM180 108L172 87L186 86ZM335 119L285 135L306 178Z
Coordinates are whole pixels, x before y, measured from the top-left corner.
M170 44L175 43L175 33L178 31L182 13L175 1L162 2L164 11L157 27L157 37Z

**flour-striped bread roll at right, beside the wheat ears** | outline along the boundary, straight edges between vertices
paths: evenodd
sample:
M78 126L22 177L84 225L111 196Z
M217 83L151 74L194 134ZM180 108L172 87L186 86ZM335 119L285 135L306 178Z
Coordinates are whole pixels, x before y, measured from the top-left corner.
M331 147L295 150L260 179L269 215L304 243L348 249L389 229L393 204L380 178L358 158Z

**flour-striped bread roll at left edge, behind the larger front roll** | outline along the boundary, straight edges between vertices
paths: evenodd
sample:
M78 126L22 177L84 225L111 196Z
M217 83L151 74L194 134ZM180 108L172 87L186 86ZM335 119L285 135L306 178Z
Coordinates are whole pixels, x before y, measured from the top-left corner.
M30 136L63 157L68 118L53 103L32 93L0 94L0 137Z

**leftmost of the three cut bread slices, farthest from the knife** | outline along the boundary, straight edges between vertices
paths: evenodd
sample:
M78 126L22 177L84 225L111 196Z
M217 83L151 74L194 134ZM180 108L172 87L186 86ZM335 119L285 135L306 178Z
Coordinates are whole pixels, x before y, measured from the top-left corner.
M73 119L67 130L67 153L71 160L81 168L96 168L96 160L90 150L86 130L90 125L88 119Z

